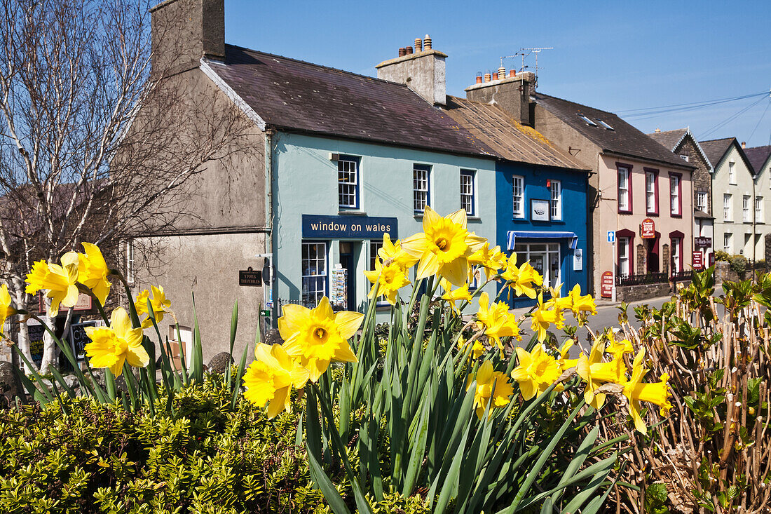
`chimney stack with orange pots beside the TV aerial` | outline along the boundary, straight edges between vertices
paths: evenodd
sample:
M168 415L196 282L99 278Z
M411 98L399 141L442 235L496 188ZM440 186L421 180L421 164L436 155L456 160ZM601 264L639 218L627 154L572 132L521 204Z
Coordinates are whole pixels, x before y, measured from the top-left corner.
M515 120L533 126L530 92L535 83L535 73L517 73L511 69L509 76L498 70L497 80L491 80L490 71L484 75L483 83L466 87L466 98L476 102L494 103L509 113Z

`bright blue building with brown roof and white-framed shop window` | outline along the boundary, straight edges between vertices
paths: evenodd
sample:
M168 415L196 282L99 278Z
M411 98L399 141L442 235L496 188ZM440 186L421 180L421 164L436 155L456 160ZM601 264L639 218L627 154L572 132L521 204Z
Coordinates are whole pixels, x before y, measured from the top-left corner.
M493 81L506 86L527 79ZM490 87L485 83L477 87ZM562 284L565 295L575 284L588 289L588 171L534 129L490 103L452 98L452 116L498 156L494 203L496 239L517 264L530 261L544 276L544 286ZM486 198L485 201L493 201ZM513 307L534 304L510 299Z

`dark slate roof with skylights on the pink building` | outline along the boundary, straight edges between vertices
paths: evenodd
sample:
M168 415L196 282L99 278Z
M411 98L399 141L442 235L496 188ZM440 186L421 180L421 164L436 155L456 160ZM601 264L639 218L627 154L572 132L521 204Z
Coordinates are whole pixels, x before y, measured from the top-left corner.
M637 157L646 161L657 161L673 167L694 169L693 166L686 164L685 161L682 161L672 151L665 149L661 144L652 140L641 130L621 120L614 113L608 113L604 110L594 109L594 107L584 106L580 103L545 95L544 93L535 93L533 98L540 106L560 118L574 130L577 130L578 133L596 144L604 152ZM595 123L597 120L602 120L613 127L613 130L608 130L601 123L597 123L596 127L591 126L584 120L581 120L579 116L588 117Z

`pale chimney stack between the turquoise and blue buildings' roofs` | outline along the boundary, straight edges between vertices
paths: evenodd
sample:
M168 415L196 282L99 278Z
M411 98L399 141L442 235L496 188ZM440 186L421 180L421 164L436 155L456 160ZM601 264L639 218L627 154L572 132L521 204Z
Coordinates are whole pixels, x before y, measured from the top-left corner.
M416 39L415 53L412 53L412 47L408 46L406 49L399 49L399 57L396 59L389 59L375 66L378 78L404 84L428 103L443 106L447 103L444 63L447 56L432 48L431 36L428 34L423 39L422 52L418 49L418 42L419 39Z

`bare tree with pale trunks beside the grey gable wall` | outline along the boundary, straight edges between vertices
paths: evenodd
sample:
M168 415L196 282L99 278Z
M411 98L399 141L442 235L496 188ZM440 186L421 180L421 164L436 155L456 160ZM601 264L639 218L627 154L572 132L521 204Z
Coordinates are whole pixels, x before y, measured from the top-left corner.
M244 151L249 123L232 103L151 71L147 8L0 0L0 250L17 306L32 301L32 262L83 241L117 255L126 238L173 228L190 178ZM25 323L18 347L32 360ZM55 350L46 340L42 370Z

